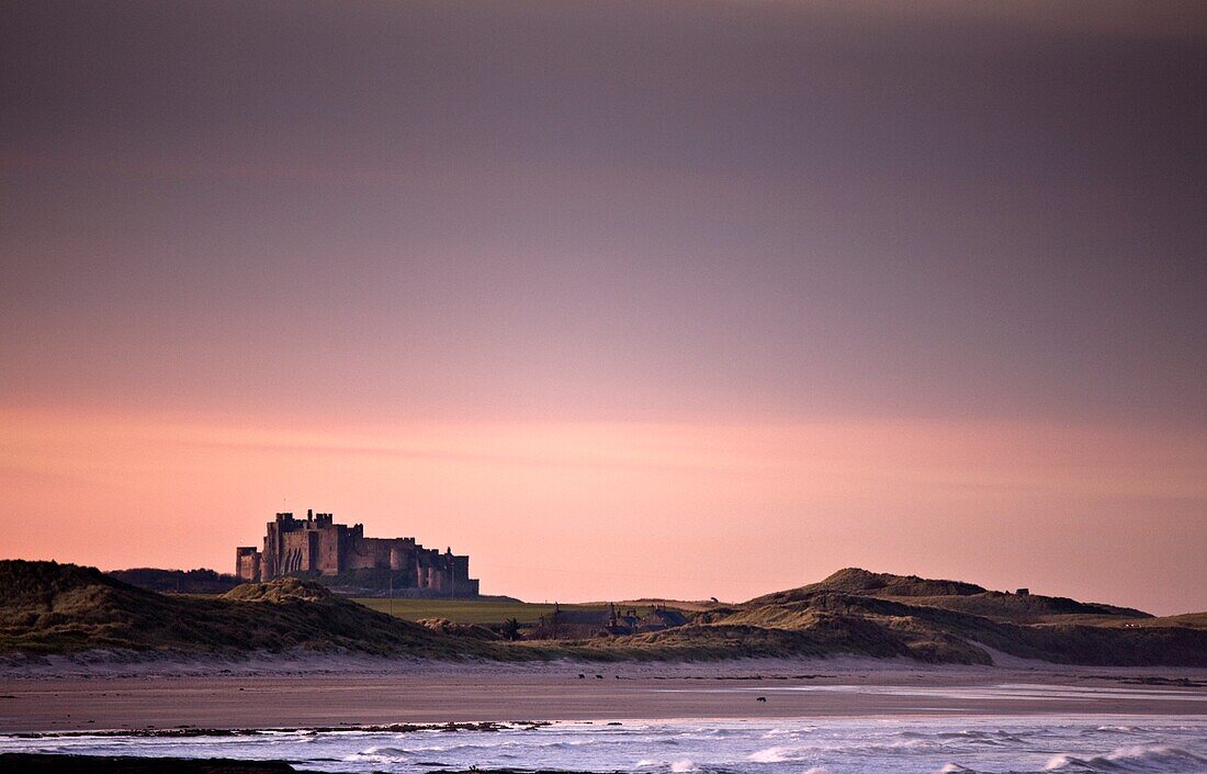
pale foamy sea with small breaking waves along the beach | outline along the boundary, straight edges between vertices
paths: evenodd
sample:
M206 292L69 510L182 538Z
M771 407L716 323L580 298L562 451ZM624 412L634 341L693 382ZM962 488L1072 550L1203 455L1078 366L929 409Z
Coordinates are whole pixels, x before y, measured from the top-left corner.
M1009 692L1016 694L1022 686ZM862 689L867 689L863 687ZM1037 688L1059 694L1061 689ZM975 691L992 691L976 688ZM742 697L742 700L748 700ZM1186 694L1189 703L1207 694ZM1195 709L1199 709L1195 704ZM1201 710L1200 710L1201 711ZM196 732L193 732L196 733ZM284 760L316 772L555 769L642 774L1207 774L1207 715L600 720L455 731L0 737L0 752Z

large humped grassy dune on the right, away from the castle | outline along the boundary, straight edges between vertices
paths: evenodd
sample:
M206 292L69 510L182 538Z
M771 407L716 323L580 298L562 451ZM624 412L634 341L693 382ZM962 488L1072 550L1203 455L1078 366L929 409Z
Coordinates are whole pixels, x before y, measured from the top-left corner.
M1201 615L1159 619L1127 607L859 569L704 619L803 633L855 652L874 641L926 662L990 663L992 648L1065 664L1207 667Z

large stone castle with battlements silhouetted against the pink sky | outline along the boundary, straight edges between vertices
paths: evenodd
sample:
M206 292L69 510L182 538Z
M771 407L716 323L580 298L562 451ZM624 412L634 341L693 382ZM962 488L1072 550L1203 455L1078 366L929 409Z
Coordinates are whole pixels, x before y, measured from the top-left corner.
M331 513L307 511L305 520L278 513L268 523L263 551L253 546L235 549L235 575L244 582L292 572L330 576L371 569L401 575L400 588L478 595L478 581L470 577L470 557L457 557L451 548L445 553L424 548L414 537L366 537L363 524L336 524Z

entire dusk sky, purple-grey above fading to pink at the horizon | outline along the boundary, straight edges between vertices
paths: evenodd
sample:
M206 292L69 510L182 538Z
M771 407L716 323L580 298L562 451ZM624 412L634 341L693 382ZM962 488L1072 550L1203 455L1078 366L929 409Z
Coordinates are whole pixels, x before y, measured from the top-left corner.
M1202 4L6 4L0 555L1207 609Z

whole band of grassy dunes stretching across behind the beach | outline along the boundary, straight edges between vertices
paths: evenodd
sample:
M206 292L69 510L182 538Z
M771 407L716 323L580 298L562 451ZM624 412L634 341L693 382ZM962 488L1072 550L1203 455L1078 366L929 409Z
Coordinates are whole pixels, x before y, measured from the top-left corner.
M607 660L859 654L989 664L991 651L1001 651L1061 664L1207 667L1207 613L1154 618L1110 605L864 570L740 605L701 605L688 625L577 641L495 641L485 629L466 625L495 622L500 611L484 610L480 601L441 601L444 615L432 616L433 600L395 600L390 616L299 578L249 583L222 596L164 595L92 568L13 560L0 561L0 652L303 648ZM398 617L416 612L415 605L438 621L425 627ZM495 605L509 615L520 611L518 603ZM459 621L459 611L470 619Z

